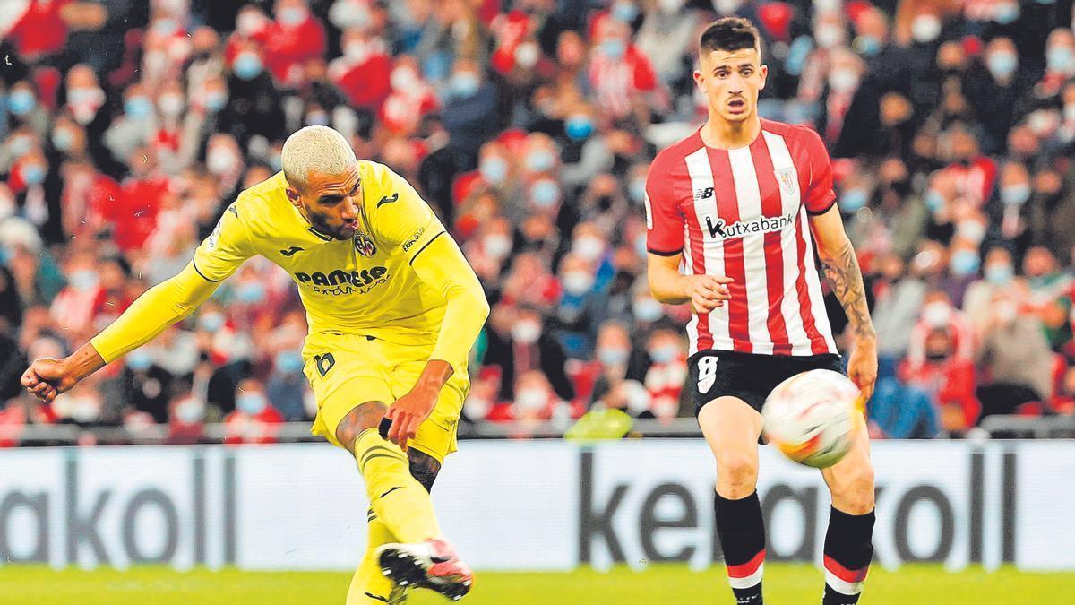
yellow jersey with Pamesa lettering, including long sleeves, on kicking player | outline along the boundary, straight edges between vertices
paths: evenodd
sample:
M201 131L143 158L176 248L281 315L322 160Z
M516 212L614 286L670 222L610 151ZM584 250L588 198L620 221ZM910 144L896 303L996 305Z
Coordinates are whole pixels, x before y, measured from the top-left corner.
M106 362L115 360L189 314L243 262L261 255L298 284L311 333L435 344L431 358L460 367L488 314L477 277L410 183L375 161L359 160L358 170L360 225L350 239L315 229L288 200L277 172L241 193L187 268L146 292L91 343ZM454 310L452 298L462 300Z

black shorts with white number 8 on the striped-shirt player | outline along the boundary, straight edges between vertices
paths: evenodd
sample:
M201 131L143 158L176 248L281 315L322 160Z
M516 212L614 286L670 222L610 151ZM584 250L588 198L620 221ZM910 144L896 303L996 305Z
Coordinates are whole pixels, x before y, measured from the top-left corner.
M840 355L756 355L732 351L699 351L687 360L684 399L693 404L694 416L717 397L739 397L761 411L765 397L777 384L812 369L844 374Z

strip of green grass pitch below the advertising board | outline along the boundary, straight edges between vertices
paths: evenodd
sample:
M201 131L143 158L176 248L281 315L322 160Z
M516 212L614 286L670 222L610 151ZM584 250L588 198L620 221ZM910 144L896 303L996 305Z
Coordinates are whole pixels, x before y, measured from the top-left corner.
M227 569L127 572L0 568L4 605L343 605L350 574L268 573ZM805 565L765 565L765 602L820 603L821 573ZM590 569L564 574L479 573L468 605L731 604L722 569L696 573L683 566L645 572ZM418 591L407 605L447 603ZM948 574L937 566L872 569L862 605L1073 605L1075 574L1024 574L1012 568L971 568Z

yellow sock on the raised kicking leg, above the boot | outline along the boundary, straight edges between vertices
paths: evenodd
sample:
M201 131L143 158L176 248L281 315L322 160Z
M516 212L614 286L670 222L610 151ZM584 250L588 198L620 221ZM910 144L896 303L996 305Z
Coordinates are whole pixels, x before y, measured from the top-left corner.
M370 507L396 539L416 544L441 537L433 501L411 475L411 463L399 446L370 428L355 440L355 459Z

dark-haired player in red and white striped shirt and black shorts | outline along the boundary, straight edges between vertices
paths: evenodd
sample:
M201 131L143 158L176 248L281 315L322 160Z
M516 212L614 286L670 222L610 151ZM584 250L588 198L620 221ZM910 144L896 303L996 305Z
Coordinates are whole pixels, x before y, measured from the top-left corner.
M654 297L690 302L684 396L717 459L717 533L741 605L762 603L764 527L756 484L761 406L776 384L843 361L815 262L847 313L847 375L866 398L876 336L862 275L844 233L829 155L805 127L761 119L768 68L758 30L728 17L702 33L694 81L708 119L662 151L646 180ZM851 451L822 470L832 492L823 605L858 603L873 557L873 466L865 423Z

